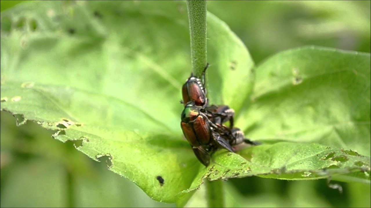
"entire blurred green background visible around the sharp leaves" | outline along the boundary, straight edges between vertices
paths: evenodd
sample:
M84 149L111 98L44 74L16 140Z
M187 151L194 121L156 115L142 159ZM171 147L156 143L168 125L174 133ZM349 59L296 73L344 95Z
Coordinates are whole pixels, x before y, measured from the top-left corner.
M1 0L1 11L22 1ZM370 53L370 1L208 1L246 44L256 64L293 47L318 45ZM1 112L1 207L174 207L155 202L134 183ZM370 184L259 177L225 181L227 202L241 207L370 207ZM188 207L203 207L203 188Z

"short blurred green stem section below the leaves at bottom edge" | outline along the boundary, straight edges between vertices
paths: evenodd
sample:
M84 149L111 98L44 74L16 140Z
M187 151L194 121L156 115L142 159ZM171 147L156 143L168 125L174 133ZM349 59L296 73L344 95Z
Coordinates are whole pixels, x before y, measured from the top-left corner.
M223 181L206 180L206 200L208 207L225 207Z

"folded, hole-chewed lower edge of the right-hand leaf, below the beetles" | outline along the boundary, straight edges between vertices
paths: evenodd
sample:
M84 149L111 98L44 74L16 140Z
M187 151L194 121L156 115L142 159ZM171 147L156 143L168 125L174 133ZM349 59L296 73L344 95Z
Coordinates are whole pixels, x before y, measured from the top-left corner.
M245 148L238 154L220 150L214 154L214 164L198 173L191 187L178 195L176 204L184 206L205 178L213 181L254 175L285 180L332 177L370 183L370 167L370 157L315 143L278 142Z

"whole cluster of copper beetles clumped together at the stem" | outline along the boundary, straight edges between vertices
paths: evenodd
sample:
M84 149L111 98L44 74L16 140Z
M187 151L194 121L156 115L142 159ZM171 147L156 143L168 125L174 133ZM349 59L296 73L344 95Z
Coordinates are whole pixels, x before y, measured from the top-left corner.
M219 147L234 152L232 146L242 142L257 144L244 138L239 128L233 128L234 110L227 105L210 105L206 97L205 71L201 80L191 76L182 87L184 110L181 114L181 129L187 141L190 143L197 159L208 166L210 163L209 152ZM229 121L230 128L223 125Z

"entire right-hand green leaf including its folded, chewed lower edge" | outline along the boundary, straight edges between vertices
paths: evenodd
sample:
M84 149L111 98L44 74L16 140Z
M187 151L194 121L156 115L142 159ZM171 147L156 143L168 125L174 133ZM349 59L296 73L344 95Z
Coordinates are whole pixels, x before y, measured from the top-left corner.
M204 178L370 183L370 67L370 54L322 47L284 51L260 64L236 126L263 145L240 155L217 152L215 166L198 174L177 205Z

